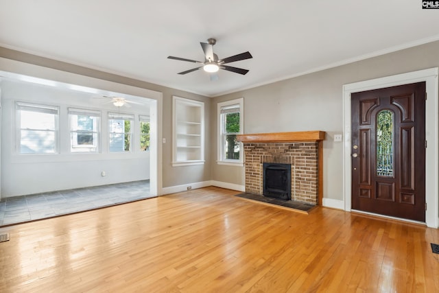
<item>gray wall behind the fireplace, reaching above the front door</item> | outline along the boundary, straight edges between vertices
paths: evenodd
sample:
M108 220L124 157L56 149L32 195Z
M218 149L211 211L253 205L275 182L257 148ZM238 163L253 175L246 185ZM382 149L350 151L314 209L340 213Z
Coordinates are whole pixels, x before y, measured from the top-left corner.
M343 199L343 143L333 135L342 133L342 86L431 67L439 67L439 42L396 51L348 65L318 71L246 91L215 97L211 106L211 132L217 134L217 103L244 97L244 132L323 130L323 196ZM438 98L438 97L434 97ZM216 159L213 145L212 161ZM244 185L243 167L216 165L212 180Z

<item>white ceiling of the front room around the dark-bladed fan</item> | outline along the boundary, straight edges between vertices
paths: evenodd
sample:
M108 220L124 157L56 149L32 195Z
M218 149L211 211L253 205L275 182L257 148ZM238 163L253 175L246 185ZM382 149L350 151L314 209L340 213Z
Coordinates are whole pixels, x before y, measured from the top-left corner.
M206 96L439 40L419 0L0 0L0 46ZM246 75L194 71L200 42Z

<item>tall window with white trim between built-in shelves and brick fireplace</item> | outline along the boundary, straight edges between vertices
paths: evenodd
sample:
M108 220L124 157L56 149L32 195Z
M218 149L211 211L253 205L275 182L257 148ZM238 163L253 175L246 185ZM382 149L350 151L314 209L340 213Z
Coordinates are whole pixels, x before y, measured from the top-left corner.
M218 103L219 125L219 163L242 163L243 154L241 143L236 139L243 130L244 99L234 99Z

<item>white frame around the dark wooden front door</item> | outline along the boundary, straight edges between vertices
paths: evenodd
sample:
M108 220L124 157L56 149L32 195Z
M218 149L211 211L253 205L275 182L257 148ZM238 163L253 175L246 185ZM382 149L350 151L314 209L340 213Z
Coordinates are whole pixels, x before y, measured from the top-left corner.
M425 102L425 224L431 228L438 228L439 220L439 114L438 114L438 73L439 68L423 69L409 73L391 75L374 80L365 80L343 85L343 125L344 125L344 148L343 148L343 199L344 210L351 211L351 93L383 89L390 86L425 82L427 101ZM392 218L380 215L383 218ZM399 219L401 220L401 219ZM407 220L407 222L414 222Z

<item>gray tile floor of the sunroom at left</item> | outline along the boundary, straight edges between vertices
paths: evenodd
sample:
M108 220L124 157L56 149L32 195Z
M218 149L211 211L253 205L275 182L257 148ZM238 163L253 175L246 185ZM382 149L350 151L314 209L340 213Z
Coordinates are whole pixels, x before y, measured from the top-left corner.
M150 180L14 196L0 200L0 226L152 198Z

